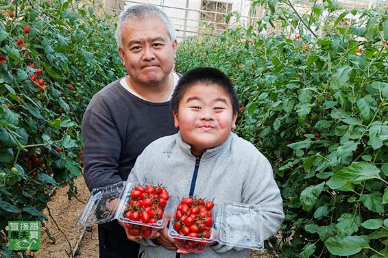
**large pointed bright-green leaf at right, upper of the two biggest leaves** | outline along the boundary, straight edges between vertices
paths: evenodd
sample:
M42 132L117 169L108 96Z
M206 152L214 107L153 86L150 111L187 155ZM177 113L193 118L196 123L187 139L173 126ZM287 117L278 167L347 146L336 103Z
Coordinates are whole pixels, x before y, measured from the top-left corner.
M338 189L350 183L356 184L369 179L381 179L380 170L367 162L354 162L343 168L329 179L327 185L332 189Z

